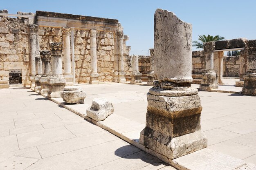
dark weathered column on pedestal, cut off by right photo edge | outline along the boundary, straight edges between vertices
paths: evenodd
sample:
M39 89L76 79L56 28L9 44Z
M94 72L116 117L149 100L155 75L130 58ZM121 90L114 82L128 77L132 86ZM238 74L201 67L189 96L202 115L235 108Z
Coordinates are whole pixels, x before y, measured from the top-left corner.
M256 40L245 41L245 70L242 94L256 95Z

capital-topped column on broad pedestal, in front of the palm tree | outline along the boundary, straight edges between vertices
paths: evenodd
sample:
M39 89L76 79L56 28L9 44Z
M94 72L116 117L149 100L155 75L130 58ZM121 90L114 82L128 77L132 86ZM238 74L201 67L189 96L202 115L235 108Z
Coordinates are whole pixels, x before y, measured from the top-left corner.
M215 42L204 42L204 58L205 71L202 73L202 81L200 89L202 91L211 91L211 89L218 88L216 73L213 70L213 51Z

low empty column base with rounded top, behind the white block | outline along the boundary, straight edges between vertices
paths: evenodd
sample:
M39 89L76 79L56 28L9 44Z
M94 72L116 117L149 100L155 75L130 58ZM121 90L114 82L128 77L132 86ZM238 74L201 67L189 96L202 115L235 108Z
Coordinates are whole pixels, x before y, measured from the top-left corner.
M85 92L82 88L77 86L66 86L64 91L61 92L61 97L63 100L70 104L80 104L84 103L84 99L86 97Z

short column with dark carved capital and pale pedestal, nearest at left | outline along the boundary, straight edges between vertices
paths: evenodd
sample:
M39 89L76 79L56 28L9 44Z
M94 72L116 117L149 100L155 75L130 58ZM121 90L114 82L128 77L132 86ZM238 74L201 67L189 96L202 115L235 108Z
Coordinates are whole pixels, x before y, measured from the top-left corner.
M51 70L52 75L48 79L47 83L49 84L49 92L47 96L50 98L61 97L61 92L65 88L66 80L62 75L62 42L52 42L49 44L51 49Z

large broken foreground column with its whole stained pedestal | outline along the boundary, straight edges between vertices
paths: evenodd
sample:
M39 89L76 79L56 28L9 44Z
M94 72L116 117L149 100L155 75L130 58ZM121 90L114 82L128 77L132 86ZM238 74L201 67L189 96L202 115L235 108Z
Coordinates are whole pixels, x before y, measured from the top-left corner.
M207 147L200 130L202 106L191 88L192 25L168 11L154 16L155 75L147 94L146 127L139 143L162 160L175 159Z

